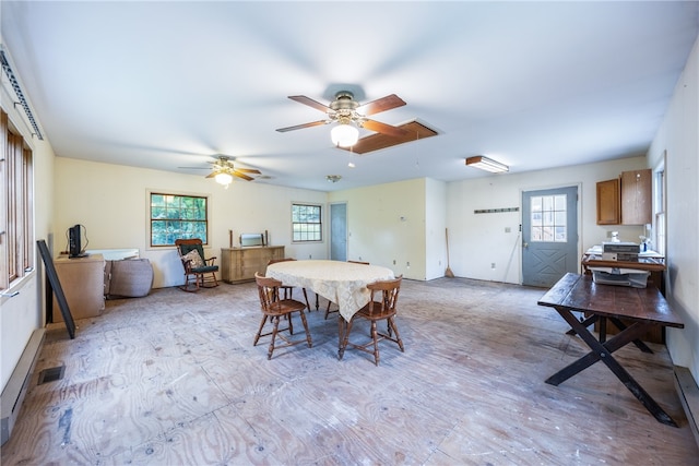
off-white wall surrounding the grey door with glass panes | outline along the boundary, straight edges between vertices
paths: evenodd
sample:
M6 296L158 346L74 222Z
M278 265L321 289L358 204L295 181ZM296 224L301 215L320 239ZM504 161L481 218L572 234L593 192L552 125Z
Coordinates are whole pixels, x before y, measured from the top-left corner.
M596 182L621 171L645 168L644 157L554 168L526 174L506 174L451 182L447 186L447 218L451 270L457 276L521 283L522 192L580 186L580 252L619 231L621 240L638 241L637 226L596 225ZM475 214L476 210L519 207L519 212ZM506 232L509 228L509 232ZM495 268L493 268L495 264Z

